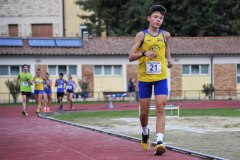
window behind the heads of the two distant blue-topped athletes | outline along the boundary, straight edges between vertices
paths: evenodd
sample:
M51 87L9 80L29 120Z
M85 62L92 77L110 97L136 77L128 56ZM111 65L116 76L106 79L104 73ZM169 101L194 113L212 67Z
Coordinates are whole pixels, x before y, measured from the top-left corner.
M77 66L76 65L49 65L48 72L50 75L58 75L59 73L77 75Z

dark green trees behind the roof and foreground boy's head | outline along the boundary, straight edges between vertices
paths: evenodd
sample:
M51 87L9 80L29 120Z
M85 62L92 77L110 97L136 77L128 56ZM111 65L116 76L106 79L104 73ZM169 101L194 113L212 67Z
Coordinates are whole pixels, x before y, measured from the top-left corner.
M92 14L87 20L91 34L135 35L148 27L148 9L162 4L168 13L162 27L172 36L240 35L240 1L236 0L77 0Z

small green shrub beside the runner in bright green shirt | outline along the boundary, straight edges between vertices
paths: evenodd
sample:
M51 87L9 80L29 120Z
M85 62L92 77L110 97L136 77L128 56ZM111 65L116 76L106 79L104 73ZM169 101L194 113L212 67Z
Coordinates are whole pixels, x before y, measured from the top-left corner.
M10 94L12 95L14 103L16 103L18 95L20 93L20 86L18 84L18 80L17 79L13 79L12 81L7 80L7 81L5 81L5 84L9 90Z

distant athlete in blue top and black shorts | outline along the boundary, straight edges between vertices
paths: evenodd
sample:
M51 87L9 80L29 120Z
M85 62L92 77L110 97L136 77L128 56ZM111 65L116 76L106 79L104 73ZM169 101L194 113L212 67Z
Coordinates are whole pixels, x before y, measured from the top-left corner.
M58 99L58 110L62 111L63 109L63 97L64 97L64 86L66 81L63 79L63 73L59 73L59 79L55 82L55 87L57 87L57 99Z

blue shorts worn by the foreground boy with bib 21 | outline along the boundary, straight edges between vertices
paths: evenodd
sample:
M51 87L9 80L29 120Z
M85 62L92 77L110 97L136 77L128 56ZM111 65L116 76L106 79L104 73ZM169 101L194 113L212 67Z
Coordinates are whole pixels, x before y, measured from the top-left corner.
M152 86L154 86L154 95L168 95L168 81L163 79L155 82L138 82L139 98L152 97Z

